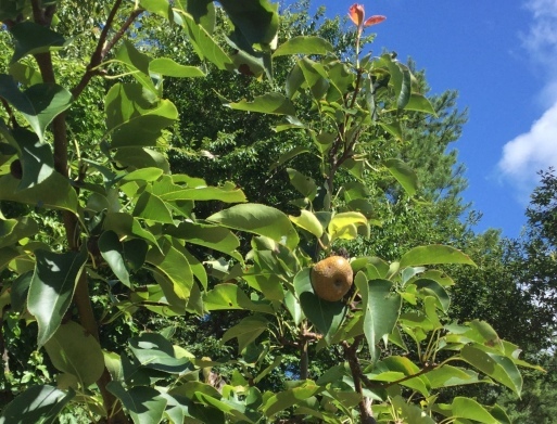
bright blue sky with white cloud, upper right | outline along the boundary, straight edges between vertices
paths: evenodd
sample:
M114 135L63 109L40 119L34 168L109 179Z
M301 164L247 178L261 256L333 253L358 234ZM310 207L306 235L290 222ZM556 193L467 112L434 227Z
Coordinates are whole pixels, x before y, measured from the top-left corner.
M312 0L345 16L352 1ZM557 0L359 1L374 50L412 56L432 93L459 92L469 121L454 144L467 167L466 202L488 228L518 236L536 172L557 167Z

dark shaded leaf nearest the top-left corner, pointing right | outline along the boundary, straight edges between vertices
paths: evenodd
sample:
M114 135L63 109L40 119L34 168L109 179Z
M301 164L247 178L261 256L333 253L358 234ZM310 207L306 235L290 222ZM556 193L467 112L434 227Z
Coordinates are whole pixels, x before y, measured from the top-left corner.
M10 63L15 63L28 54L59 50L66 42L60 34L30 21L14 25L10 33L15 39L14 54Z

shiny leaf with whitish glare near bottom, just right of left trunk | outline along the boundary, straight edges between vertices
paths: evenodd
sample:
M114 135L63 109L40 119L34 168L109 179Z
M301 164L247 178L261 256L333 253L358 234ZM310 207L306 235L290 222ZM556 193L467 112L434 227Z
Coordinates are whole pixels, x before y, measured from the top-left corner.
M172 343L159 333L142 333L131 337L128 344L141 367L180 374L190 365L188 358L176 358Z

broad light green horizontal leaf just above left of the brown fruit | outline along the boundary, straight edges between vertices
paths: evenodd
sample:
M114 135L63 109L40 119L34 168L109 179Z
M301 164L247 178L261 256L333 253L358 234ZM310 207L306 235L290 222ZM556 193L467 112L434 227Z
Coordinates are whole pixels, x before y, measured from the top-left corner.
M290 219L282 211L261 204L236 205L216 213L207 221L269 237L293 249L300 241Z

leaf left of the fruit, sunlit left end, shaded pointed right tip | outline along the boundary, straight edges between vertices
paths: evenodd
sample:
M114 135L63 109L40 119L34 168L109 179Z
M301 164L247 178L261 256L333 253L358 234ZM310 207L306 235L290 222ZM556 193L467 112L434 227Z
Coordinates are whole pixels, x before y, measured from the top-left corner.
M254 312L275 314L266 301L251 300L240 287L232 283L217 284L203 298L207 310L245 309Z

